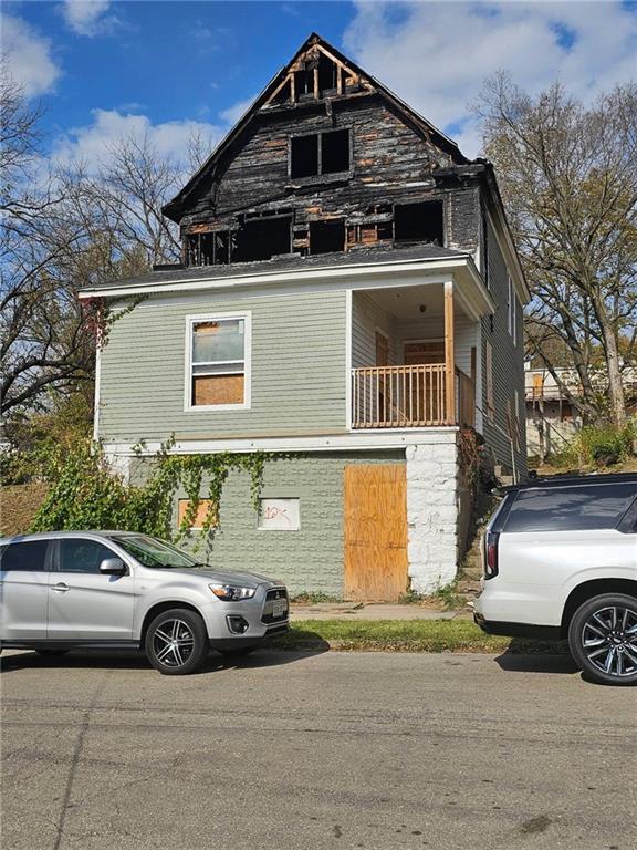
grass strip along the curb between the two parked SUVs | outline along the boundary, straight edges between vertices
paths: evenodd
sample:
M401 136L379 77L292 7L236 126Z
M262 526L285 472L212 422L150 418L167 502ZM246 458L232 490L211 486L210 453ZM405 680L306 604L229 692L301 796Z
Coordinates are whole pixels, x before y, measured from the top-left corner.
M281 650L367 652L567 652L563 642L525 641L485 634L470 620L300 620L272 641Z

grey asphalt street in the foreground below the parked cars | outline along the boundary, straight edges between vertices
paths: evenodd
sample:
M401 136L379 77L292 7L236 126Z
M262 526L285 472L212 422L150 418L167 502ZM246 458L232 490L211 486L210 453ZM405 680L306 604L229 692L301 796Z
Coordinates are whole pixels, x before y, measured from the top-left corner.
M637 847L637 690L567 657L1 661L3 850Z

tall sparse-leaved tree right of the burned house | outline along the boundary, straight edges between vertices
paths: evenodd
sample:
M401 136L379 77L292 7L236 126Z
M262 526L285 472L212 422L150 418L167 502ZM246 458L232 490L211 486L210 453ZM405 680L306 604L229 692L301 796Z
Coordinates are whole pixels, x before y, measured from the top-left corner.
M637 355L637 86L585 107L558 83L531 97L499 73L476 111L534 294L529 350L585 419L622 426Z

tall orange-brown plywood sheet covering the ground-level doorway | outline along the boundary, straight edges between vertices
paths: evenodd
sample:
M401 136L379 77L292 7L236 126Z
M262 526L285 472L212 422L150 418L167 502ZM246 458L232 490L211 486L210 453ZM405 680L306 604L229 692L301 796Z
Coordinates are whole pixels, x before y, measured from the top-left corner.
M404 464L345 467L345 595L391 602L407 589Z

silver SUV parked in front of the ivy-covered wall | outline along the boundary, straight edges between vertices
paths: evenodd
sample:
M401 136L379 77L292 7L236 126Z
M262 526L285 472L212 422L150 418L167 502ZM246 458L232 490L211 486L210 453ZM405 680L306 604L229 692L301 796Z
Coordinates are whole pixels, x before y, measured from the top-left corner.
M281 582L221 572L145 535L0 540L2 649L143 649L160 673L179 675L198 670L210 649L244 654L285 632L288 609Z

